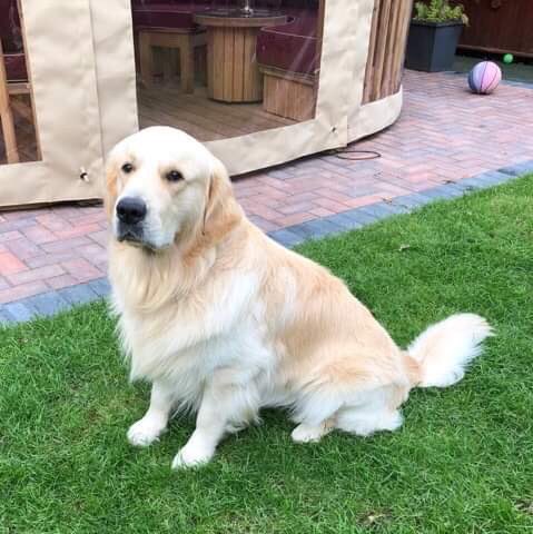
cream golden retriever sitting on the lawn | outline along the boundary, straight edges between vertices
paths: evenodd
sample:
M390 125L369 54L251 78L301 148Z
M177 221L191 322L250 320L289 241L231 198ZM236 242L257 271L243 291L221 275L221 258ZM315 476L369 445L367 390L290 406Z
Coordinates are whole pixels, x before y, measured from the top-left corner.
M409 390L460 380L491 334L460 314L398 348L340 279L254 226L223 164L172 128L112 149L106 206L121 344L131 379L152 385L128 439L149 445L194 411L176 468L208 462L266 406L288 408L296 442L394 431Z

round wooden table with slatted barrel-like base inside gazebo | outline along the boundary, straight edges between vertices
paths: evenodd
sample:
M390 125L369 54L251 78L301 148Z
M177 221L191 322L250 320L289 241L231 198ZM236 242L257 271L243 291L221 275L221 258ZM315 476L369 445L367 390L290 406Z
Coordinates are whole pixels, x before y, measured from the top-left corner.
M239 10L203 11L195 16L207 28L207 90L223 102L258 102L263 99L257 66L257 33L265 26L279 26L285 14L257 9L251 16Z

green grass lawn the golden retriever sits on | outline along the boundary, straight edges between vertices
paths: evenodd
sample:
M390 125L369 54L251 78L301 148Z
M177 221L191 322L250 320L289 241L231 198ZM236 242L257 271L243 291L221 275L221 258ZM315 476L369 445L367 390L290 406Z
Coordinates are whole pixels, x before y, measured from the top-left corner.
M102 304L0 330L0 533L522 533L533 530L533 177L302 251L342 276L399 344L455 312L495 326L448 389L413 392L405 425L290 442L282 412L198 471L174 422L136 449L147 406Z

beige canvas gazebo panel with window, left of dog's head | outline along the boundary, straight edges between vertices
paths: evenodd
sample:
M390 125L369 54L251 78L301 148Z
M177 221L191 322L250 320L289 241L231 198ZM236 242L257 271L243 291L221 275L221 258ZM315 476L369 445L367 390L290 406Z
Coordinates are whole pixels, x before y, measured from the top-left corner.
M89 0L0 0L0 207L99 197Z

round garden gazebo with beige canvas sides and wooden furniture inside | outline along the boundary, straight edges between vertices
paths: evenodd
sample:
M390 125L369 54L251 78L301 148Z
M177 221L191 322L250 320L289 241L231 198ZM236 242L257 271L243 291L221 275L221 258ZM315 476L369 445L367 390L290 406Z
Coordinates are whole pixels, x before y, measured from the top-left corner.
M412 2L0 0L0 206L100 198L151 125L241 174L377 132L402 108Z

